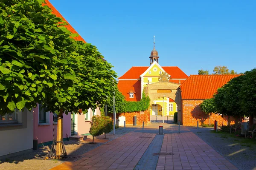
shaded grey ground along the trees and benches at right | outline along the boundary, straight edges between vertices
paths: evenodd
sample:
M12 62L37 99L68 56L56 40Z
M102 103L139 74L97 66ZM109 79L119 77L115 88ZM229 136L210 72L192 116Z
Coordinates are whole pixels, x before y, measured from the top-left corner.
M200 127L199 133L196 127L188 128L239 170L256 170L256 143L244 143L244 137L231 136L229 133L213 133L213 128Z

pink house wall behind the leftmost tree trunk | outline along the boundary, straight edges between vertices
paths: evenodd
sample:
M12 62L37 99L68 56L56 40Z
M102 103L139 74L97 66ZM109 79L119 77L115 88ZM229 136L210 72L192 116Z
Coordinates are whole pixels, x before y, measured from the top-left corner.
M33 108L34 114L34 140L38 140L38 144L52 141L53 113L49 113L49 123L39 124L39 106ZM63 114L63 138L71 136L71 116Z

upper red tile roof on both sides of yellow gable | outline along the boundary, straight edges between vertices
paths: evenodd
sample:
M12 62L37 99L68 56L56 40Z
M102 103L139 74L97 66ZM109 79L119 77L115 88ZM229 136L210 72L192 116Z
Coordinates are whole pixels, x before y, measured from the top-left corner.
M180 70L177 66L175 67L162 67L172 79L186 79L188 76ZM124 75L118 79L139 79L140 75L143 74L148 67L132 67Z

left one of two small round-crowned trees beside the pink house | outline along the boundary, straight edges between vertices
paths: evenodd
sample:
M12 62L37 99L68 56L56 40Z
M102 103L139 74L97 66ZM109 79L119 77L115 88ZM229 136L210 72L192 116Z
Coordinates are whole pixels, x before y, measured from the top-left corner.
M90 122L90 130L89 133L93 136L93 143L94 143L94 137L100 136L103 133L103 121L101 120L101 117L96 115L92 117L92 121Z

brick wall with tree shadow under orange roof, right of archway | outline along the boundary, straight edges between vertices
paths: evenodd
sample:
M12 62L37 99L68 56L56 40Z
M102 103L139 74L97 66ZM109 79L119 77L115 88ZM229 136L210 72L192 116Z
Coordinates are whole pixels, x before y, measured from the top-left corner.
M209 124L208 114L201 111L199 104L204 100L182 100L182 115L181 123L185 126L197 126L197 121L199 125L202 123ZM210 116L210 123L214 124L214 121L218 121L218 125L227 125L227 116L223 118L221 115L212 113ZM234 123L233 117L230 116L230 124Z

